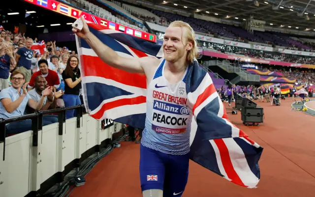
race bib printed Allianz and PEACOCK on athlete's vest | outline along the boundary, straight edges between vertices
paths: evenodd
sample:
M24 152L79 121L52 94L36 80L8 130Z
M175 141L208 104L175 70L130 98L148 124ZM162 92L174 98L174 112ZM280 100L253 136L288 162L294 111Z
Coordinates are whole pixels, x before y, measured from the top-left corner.
M184 133L189 118L186 106L154 100L152 129L158 133Z

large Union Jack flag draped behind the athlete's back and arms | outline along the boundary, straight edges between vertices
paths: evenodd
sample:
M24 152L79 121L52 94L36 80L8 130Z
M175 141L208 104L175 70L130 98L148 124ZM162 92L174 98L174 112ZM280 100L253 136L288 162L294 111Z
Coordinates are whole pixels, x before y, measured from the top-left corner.
M120 56L162 57L161 46L141 38L88 23L90 31ZM95 119L144 128L146 78L105 64L87 42L76 36L81 59L83 97ZM190 131L190 159L240 186L254 188L260 179L258 161L263 148L227 119L209 74L195 60L186 81L188 107L194 118Z

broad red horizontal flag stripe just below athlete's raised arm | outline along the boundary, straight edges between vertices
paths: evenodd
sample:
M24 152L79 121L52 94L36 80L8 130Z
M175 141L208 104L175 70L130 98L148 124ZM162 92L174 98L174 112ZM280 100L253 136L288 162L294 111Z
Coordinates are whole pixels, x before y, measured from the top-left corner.
M146 76L139 73L128 73L126 71L113 68L104 63L99 57L81 56L83 61L84 77L102 77L116 82L140 88L147 88Z

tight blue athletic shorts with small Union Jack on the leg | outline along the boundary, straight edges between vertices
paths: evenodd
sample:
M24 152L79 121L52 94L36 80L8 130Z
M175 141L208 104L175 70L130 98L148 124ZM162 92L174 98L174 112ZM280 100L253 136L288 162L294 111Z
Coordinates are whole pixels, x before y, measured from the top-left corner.
M169 155L140 145L141 190L163 190L163 197L181 197L187 181L189 154Z

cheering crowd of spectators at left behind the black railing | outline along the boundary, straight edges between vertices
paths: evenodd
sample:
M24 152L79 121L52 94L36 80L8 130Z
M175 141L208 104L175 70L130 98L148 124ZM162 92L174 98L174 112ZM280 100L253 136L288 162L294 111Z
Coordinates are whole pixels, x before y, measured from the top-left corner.
M58 47L55 41L47 42L42 50L32 50L32 45L38 46L36 38L0 31L0 118L81 104L75 51ZM66 111L66 118L74 116L75 110ZM54 122L58 122L56 115L44 115L43 125ZM31 120L22 120L7 124L6 130L15 134L31 126Z

